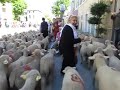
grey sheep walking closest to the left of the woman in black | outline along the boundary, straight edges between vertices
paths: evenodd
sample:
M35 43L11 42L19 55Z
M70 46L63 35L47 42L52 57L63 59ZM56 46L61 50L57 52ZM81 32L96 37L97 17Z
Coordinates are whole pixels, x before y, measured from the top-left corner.
M41 90L45 90L46 83L52 88L53 70L54 70L54 54L55 49L50 49L49 53L43 56L40 60L41 74Z

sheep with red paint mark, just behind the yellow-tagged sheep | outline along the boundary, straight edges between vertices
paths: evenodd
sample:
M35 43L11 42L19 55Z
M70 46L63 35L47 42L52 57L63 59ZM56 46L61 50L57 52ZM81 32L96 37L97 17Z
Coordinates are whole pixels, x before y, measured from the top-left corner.
M20 78L20 75L26 70L37 69L39 71L40 59L43 55L44 54L41 52L41 50L36 49L33 52L34 60L32 62L15 68L9 77L10 87L12 88L15 85L18 89L22 88L24 81Z

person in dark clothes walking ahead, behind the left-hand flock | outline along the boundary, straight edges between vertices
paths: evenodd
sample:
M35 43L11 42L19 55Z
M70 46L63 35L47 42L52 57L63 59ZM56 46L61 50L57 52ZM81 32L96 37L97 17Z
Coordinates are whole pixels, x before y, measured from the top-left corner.
M45 38L46 36L48 36L48 23L45 21L45 18L42 18L42 23L40 26L40 31L41 33L43 33L43 37Z

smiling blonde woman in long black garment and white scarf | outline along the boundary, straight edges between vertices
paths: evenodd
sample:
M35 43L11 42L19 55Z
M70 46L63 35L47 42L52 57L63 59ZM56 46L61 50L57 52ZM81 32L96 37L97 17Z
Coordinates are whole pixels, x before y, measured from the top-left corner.
M77 24L77 16L71 15L61 33L61 39L59 43L59 51L60 54L63 55L63 62L61 73L63 74L63 70L67 66L76 67L76 46L75 44L80 43L83 40L83 37L78 37L76 31L76 24Z

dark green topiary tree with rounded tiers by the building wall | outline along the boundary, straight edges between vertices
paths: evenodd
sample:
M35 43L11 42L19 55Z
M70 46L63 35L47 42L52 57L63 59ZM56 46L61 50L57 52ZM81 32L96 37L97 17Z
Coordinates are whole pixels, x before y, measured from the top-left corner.
M98 3L94 3L90 9L90 12L93 16L89 18L88 22L90 24L95 24L97 26L97 28L96 28L97 35L96 36L98 36L98 37L100 36L100 34L105 33L105 31L106 31L102 27L101 20L103 19L103 15L107 11L107 7L108 7L108 5L105 4L104 2L98 2Z

